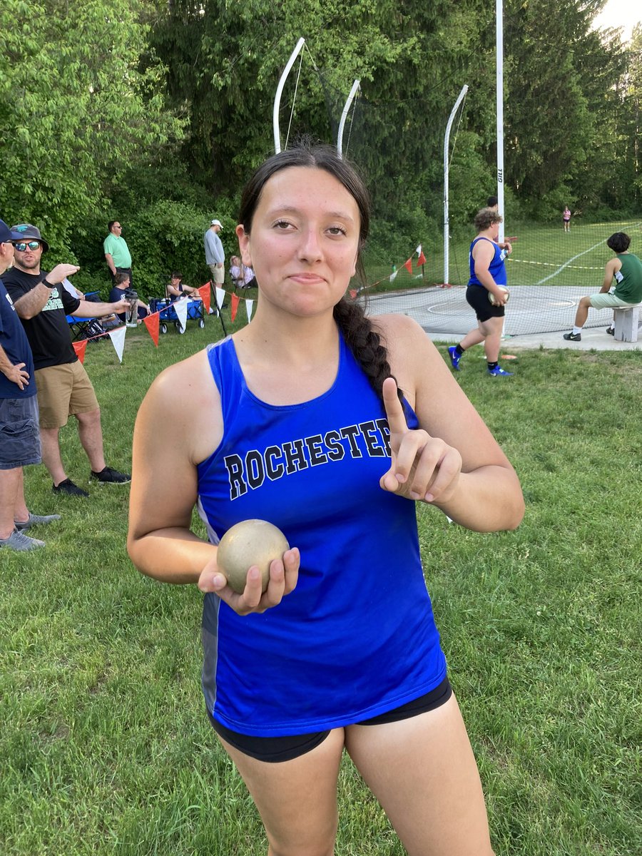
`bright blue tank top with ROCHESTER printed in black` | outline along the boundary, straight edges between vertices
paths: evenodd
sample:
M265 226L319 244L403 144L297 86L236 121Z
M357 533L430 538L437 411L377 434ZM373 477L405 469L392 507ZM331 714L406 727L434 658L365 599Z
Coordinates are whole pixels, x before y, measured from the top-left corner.
M306 734L360 722L430 692L445 659L419 556L414 502L379 487L383 403L340 337L335 383L283 407L247 389L231 338L208 349L223 440L199 464L212 543L239 520L300 549L297 587L262 615L215 594L203 611L207 709L241 734ZM417 417L407 407L408 424Z

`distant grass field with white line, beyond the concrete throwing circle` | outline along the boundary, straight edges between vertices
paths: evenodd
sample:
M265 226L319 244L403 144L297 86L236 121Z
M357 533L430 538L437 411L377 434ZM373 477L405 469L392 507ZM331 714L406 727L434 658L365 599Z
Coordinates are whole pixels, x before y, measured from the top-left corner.
M575 220L571 231L565 234L562 223L544 226L536 223L508 223L507 235L517 235L513 253L508 258L508 283L513 285L560 285L598 288L602 285L604 265L613 257L606 239L614 232L631 236L631 252L642 256L642 222L639 219L611 223L584 223ZM454 238L449 247L449 282L466 285L468 282L468 249L474 236ZM637 247L637 249L636 249ZM401 248L400 248L401 249ZM412 253L414 247L407 248ZM401 249L401 253L404 250ZM413 274L403 266L406 259L391 259L389 266L368 265L367 281L372 292L389 291L417 286L442 284L443 245L430 251L425 247L426 264L423 275L417 269L417 255L413 255ZM389 282L392 265L397 268L394 282ZM376 283L376 284L374 284Z

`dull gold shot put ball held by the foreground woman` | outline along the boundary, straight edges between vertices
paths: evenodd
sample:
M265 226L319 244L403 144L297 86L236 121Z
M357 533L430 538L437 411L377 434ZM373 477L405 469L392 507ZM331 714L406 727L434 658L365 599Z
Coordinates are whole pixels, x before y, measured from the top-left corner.
M270 580L270 564L290 549L285 535L267 520L241 520L230 526L218 544L217 565L230 588L239 594L245 589L247 571L257 565L263 591Z

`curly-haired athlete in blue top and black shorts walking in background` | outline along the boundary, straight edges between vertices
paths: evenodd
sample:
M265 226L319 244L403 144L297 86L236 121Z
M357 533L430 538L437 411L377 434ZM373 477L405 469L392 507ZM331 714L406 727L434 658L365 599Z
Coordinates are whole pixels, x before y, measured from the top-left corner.
M460 360L467 348L484 342L487 371L492 377L510 377L499 365L499 348L502 342L504 306L508 300L506 265L504 259L511 251L510 241L497 243L502 217L495 208L482 208L475 217L477 237L470 245L470 279L466 300L473 307L477 327L470 330L458 345L448 349L450 365L460 370ZM490 303L492 294L495 303Z

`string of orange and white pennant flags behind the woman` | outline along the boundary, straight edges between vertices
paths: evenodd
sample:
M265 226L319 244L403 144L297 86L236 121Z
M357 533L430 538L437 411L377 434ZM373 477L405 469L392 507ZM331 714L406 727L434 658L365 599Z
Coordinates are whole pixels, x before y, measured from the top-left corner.
M414 269L425 265L426 259L424 251L421 247L421 244L415 249L413 255L417 255L417 259L414 260ZM401 267L406 268L407 272L412 276L413 275L413 256L401 265ZM372 282L366 288L373 288L378 285L383 280L388 279L389 282L395 282L396 276L399 273L399 269L396 265L393 265L392 273L389 276L383 276L382 279L377 280L377 282ZM350 297L355 300L357 294L359 294L361 288L350 288L349 294ZM200 288L197 288L200 299L203 301L203 308L205 314L210 314L211 308L211 282L205 282L205 285L201 285ZM228 296L228 292L225 291L224 288L220 288L216 286L214 288L214 293L217 301L217 312L221 312L223 309L223 303L225 301L226 296ZM229 294L230 299L230 316L232 321L236 320L237 312L239 311L239 306L241 305L241 300L245 304L246 312L247 312L247 323L249 324L252 320L252 312L254 307L254 300L248 297L243 297L241 294L236 294L233 292ZM183 329L187 325L187 308L188 308L189 300L175 300L174 303L171 304L172 309L176 313L176 318L178 322L181 324ZM146 318L142 318L142 323L145 324L146 330L149 335L152 337L152 342L154 343L154 347L158 348L158 334L160 332L160 316L162 312L167 310L168 306L161 306L156 312L151 312ZM80 360L81 363L85 361L85 353L87 348L87 342L92 342L97 339L102 339L104 336L109 336L111 344L114 346L114 350L116 351L116 356L118 357L118 361L122 363L122 354L125 350L125 336L127 336L127 326L125 324L122 327L116 327L115 330L106 330L104 333L99 333L98 336L90 336L87 339L82 339L80 342L72 342L74 345L74 351L76 356Z

